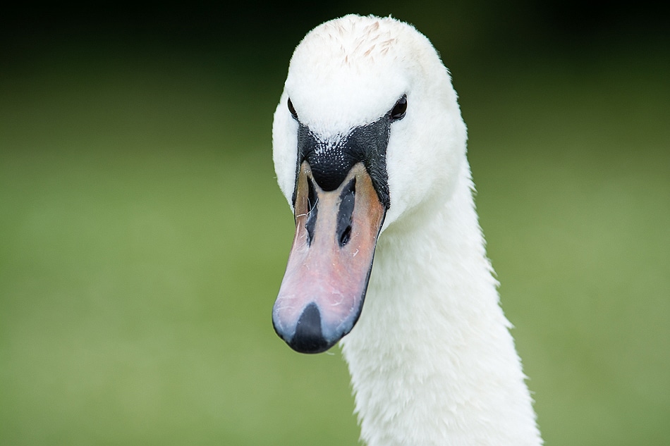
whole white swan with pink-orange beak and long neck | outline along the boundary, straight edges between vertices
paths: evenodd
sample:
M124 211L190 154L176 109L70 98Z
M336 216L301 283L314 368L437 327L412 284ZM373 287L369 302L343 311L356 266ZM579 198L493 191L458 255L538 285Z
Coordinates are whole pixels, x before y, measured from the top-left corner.
M296 236L272 318L298 352L341 340L369 446L542 444L465 140L412 26L346 16L293 53L273 158Z

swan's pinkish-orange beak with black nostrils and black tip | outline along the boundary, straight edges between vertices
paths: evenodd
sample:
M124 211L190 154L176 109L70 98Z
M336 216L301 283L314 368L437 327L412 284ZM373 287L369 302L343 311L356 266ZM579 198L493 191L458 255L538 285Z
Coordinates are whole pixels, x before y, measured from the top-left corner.
M272 322L297 352L319 353L358 321L386 209L363 163L339 187L324 191L307 161L298 173L294 209L296 236Z

